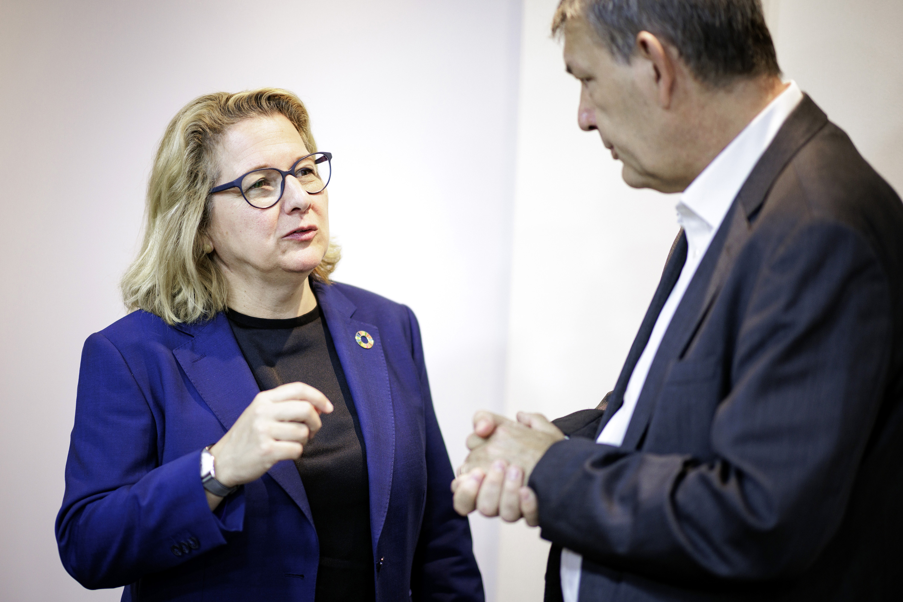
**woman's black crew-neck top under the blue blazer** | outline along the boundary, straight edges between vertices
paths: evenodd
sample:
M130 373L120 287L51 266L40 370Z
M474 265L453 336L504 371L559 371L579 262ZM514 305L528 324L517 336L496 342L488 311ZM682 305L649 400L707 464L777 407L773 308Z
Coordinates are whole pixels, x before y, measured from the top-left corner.
M316 600L375 599L364 438L319 306L289 320L226 315L261 391L299 381L332 403L295 461L320 540Z

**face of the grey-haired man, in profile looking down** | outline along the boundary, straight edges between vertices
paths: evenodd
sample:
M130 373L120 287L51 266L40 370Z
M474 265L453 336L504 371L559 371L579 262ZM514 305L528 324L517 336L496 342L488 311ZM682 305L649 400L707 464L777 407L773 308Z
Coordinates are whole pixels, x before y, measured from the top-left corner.
M577 17L564 23L564 63L581 82L581 129L599 130L612 158L623 163L621 175L629 186L660 189L653 169L658 154L651 119L655 111L638 85L645 61L615 60L592 25Z

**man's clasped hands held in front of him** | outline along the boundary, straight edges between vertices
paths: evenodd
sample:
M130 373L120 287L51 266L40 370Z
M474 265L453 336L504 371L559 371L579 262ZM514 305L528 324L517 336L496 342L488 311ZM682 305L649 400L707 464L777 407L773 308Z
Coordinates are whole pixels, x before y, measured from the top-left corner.
M470 455L452 481L458 514L479 510L508 523L521 517L539 524L536 495L527 482L539 458L564 433L542 414L517 412L517 421L492 412L477 412L467 438Z

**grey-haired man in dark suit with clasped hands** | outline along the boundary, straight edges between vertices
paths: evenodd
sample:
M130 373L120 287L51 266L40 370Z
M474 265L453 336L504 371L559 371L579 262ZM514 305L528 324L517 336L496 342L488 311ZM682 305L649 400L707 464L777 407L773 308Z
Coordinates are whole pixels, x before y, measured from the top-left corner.
M479 412L456 509L538 523L546 599L903 599L900 199L758 0L563 0L553 31L682 230L607 408Z

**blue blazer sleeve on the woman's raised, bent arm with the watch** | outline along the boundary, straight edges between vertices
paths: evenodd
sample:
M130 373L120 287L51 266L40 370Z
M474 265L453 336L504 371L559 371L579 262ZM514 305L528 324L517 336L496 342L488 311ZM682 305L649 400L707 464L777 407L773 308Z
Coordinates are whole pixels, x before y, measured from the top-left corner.
M126 360L103 334L91 335L56 520L63 566L86 588L116 588L172 569L242 529L244 492L211 513L200 449L161 466L159 440Z

